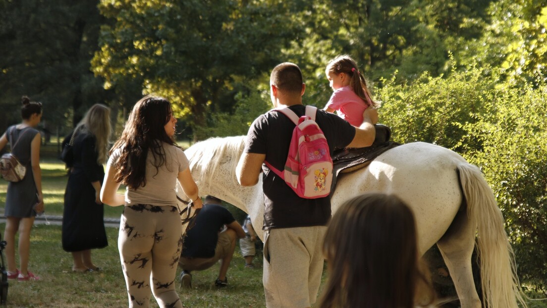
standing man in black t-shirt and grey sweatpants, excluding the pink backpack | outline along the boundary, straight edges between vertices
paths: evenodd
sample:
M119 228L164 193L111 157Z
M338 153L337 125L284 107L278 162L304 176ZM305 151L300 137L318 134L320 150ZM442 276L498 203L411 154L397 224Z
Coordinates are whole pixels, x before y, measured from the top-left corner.
M299 117L304 115L305 88L300 68L293 63L281 63L271 73L270 96L276 108L287 107ZM331 155L335 148L368 147L374 142L373 112L367 108L363 124L353 127L335 114L317 111L316 122ZM260 115L249 128L236 168L243 186L257 184L263 173L266 307L310 307L317 299L323 271L322 244L331 214L330 198L299 197L264 164L267 160L278 170L284 169L294 126L279 112Z

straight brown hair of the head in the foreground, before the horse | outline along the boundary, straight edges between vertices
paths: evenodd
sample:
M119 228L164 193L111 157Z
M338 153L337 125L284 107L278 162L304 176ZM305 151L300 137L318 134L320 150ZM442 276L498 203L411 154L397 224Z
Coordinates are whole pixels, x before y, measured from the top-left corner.
M329 277L319 307L430 304L434 292L417 249L414 215L398 197L370 193L348 200L325 235ZM427 303L417 303L422 295Z

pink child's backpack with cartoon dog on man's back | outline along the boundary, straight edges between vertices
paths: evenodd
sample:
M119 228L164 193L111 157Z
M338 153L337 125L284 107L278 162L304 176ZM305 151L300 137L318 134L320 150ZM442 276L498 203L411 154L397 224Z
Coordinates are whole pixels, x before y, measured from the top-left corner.
M280 176L294 192L306 199L326 197L333 182L333 159L329 145L315 121L317 108L306 106L306 115L298 118L289 108L273 111L286 115L296 125L290 140L289 155L283 172L265 161L276 175Z

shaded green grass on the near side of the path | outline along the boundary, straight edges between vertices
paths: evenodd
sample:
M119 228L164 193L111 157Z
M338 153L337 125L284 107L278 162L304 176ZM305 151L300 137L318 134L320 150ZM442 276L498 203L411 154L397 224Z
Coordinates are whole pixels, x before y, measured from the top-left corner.
M0 224L4 230L5 224ZM127 293L118 254L118 228L107 228L109 245L92 251L102 272L74 273L72 255L61 248L61 226L34 225L31 235L29 268L42 280L9 281L9 307L126 307ZM176 287L185 307L264 307L261 258L255 259L255 269L245 269L236 248L228 270L229 286L214 286L219 270L212 268L193 273L193 289ZM151 307L158 307L151 300Z

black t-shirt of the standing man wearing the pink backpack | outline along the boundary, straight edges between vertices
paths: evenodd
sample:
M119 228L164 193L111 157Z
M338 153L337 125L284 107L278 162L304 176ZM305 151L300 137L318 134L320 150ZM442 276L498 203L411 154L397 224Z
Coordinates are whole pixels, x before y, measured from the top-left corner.
M305 106L289 107L299 117ZM345 148L355 136L355 127L335 114L317 111L316 122L321 127L330 154L335 148ZM245 153L266 154L266 161L278 170L283 170L294 123L284 114L268 112L254 120L245 142ZM330 219L330 197L303 199L263 164L264 230L270 228L295 228L300 226L326 225Z

